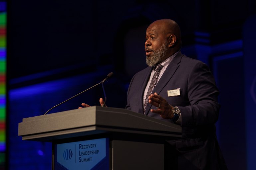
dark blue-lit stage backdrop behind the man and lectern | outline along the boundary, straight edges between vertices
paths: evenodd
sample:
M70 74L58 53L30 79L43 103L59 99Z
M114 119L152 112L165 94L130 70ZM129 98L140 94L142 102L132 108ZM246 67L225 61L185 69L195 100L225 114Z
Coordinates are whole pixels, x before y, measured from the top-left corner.
M51 169L51 143L22 141L22 118L99 83L124 108L132 76L146 67L153 21L181 27L182 52L208 64L220 90L217 137L229 169L256 169L255 0L7 1L7 169ZM50 113L99 105L98 86Z

